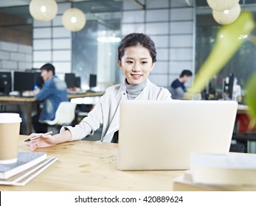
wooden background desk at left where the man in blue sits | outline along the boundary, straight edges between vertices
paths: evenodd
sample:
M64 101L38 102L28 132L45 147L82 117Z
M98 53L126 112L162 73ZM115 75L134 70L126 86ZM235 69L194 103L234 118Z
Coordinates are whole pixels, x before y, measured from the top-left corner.
M88 92L88 93L74 93L69 94L69 99L102 96L103 92ZM32 132L32 108L34 105L39 104L34 97L20 97L20 96L0 96L0 105L7 106L10 104L20 104L25 107L25 115L27 116L26 131L24 135L29 135ZM24 120L23 120L24 121Z

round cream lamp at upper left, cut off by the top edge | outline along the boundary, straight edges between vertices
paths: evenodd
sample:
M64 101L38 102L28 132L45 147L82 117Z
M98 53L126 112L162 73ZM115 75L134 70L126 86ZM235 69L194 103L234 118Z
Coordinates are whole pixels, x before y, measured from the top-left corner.
M30 15L37 21L51 21L58 12L55 0L32 0L30 1Z

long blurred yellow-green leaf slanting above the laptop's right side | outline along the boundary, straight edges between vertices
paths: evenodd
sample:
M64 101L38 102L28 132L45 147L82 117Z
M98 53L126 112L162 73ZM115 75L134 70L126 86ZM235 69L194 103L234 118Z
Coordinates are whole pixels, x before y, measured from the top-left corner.
M217 32L215 45L199 68L193 86L188 90L189 94L199 93L206 87L210 79L218 74L235 54L254 27L255 22L250 12L243 12L232 24L221 26Z

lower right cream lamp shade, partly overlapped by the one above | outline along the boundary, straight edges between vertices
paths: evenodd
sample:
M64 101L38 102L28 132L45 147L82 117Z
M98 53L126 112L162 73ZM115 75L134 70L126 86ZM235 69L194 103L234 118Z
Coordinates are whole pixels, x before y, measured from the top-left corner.
M235 4L235 7L232 7L229 10L216 11L212 10L212 16L218 24L231 24L235 21L241 13L240 4Z

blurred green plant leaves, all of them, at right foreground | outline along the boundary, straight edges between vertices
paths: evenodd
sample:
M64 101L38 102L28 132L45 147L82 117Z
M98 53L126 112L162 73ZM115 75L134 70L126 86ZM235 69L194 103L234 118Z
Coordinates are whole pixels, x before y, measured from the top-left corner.
M217 32L215 45L204 64L199 68L196 74L193 86L189 88L185 99L191 99L200 93L210 82L210 80L224 68L231 57L246 40L255 28L253 15L249 11L243 11L238 19L232 24L221 26ZM253 38L250 38L251 41ZM254 39L255 40L255 39ZM256 40L255 40L256 45ZM251 118L250 127L256 124L256 74L250 77L246 85L246 105L249 107L249 116Z

